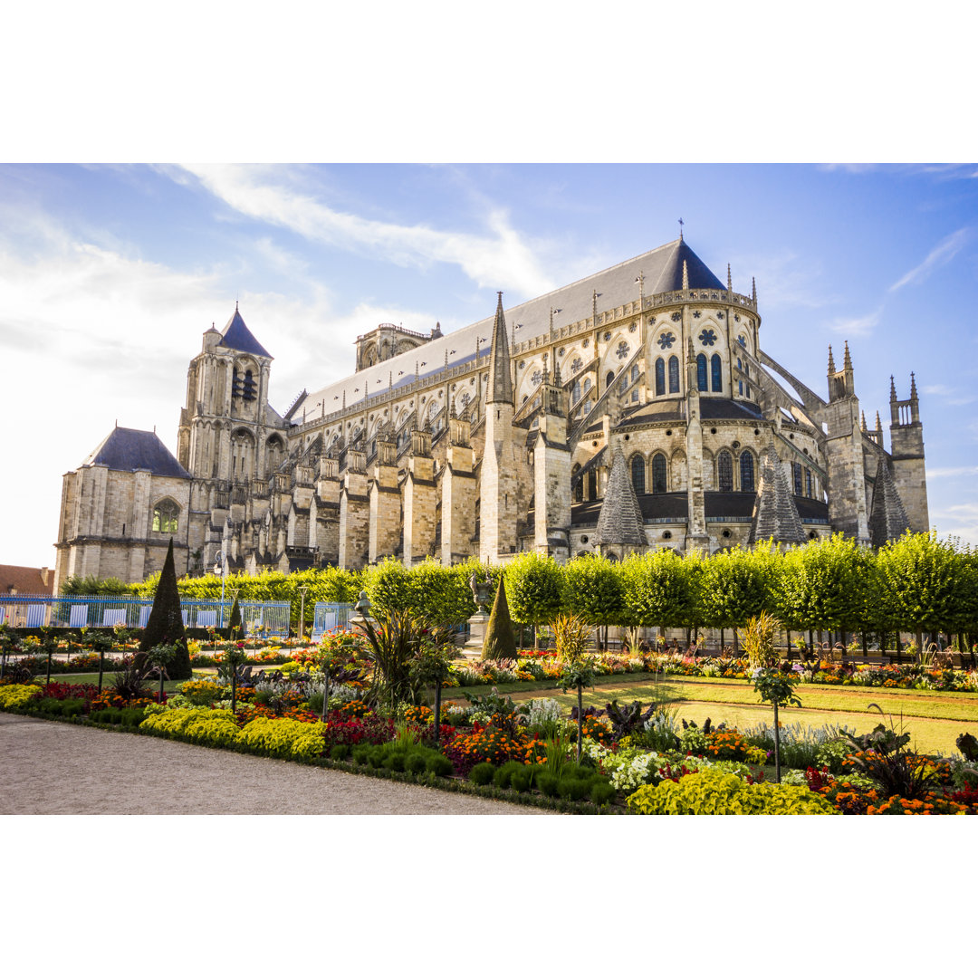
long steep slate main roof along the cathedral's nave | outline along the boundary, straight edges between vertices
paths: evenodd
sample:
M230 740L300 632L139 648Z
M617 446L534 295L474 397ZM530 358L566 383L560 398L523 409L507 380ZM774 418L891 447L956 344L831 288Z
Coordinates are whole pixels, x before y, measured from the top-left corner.
M593 311L593 294L596 291L600 292L600 311L636 301L639 298L636 279L640 272L645 276L645 295L682 289L684 260L689 270L690 289L727 288L696 256L689 244L679 239L645 251L644 254L568 286L511 306L505 310L506 322L511 330L518 325L519 329L515 332L518 342L546 335L550 331L551 309L560 310L554 317L554 326L557 329L588 319ZM476 338L480 341L480 353L488 352L495 321L494 313L460 330L436 336L417 349L398 354L314 390L300 401L299 407L304 407L312 416L322 410L325 402L326 413L331 414L341 407L344 393L346 405L350 407L357 400L363 400L365 393L378 394L387 390L391 378L396 390L414 381L416 363L419 365L419 378L422 379L441 371L445 366L446 352L449 367L458 367L473 361Z

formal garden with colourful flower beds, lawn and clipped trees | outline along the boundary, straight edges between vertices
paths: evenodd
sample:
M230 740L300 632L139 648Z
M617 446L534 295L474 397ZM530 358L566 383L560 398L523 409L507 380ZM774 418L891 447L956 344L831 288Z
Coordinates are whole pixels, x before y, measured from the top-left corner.
M180 596L213 584L169 561L144 630L0 628L0 709L565 812L978 814L978 573L954 542L289 587L317 574L317 599L360 600L315 644L241 641L234 615L188 640Z

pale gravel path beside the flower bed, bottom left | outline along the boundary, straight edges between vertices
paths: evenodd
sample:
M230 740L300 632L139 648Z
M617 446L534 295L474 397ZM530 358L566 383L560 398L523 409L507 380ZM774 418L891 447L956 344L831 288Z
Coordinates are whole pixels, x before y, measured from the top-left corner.
M489 798L0 713L0 815L547 815Z

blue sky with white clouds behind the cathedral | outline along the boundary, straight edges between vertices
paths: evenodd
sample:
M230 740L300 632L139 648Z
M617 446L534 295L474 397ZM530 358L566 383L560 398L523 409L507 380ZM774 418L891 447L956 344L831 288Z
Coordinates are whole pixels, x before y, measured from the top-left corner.
M0 167L9 458L0 562L51 564L61 475L117 420L175 450L186 371L240 300L272 401L349 373L380 322L447 332L664 244L678 219L764 348L817 392L848 339L889 422L920 391L931 521L978 544L978 165ZM888 444L888 442L887 442Z

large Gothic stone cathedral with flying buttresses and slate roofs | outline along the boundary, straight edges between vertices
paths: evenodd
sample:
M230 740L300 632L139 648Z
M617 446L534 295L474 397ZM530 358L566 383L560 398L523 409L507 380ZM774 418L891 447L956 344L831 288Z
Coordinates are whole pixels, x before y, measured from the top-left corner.
M488 311L488 310L487 310ZM682 237L454 333L389 323L353 374L268 402L272 356L235 309L190 363L177 455L115 427L64 476L56 587L522 551L620 559L929 528L916 384L890 449L848 344L824 395L765 353L757 289ZM265 337L266 340L268 337Z

